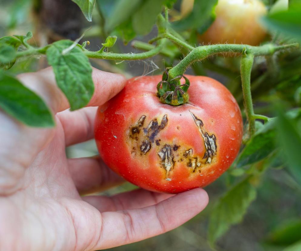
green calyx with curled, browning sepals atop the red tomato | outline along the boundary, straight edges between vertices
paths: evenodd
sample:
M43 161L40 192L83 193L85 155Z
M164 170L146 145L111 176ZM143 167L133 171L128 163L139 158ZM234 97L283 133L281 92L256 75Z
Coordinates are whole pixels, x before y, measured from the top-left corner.
M170 68L166 68L163 75L162 81L157 85L157 95L160 101L168 105L182 105L188 102L189 96L187 90L190 82L184 75L178 75L173 79L168 79L168 71ZM185 79L185 84L181 84L180 79Z

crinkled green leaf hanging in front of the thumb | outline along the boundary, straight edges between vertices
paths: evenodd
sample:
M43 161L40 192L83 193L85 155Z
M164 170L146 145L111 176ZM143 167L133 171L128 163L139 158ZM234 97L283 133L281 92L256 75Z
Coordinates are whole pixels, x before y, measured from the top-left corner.
M89 59L82 49L78 46L72 48L73 45L70 40L60 40L54 42L46 52L58 87L68 98L71 110L87 105L94 92ZM64 50L68 52L63 53Z

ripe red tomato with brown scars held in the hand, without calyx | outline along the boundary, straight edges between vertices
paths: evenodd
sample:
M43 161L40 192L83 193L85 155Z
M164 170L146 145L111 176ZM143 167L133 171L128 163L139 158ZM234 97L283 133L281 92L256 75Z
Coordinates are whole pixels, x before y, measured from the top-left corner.
M95 140L102 159L144 189L178 193L207 186L240 149L243 123L234 97L214 79L187 77L187 104L160 103L158 75L128 80L98 108Z

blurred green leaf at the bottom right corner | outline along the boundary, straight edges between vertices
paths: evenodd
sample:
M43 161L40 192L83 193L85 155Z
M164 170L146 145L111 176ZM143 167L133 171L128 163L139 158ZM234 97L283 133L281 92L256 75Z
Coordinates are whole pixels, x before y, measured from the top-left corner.
M288 246L299 240L301 240L301 219L291 219L269 233L265 242L277 246Z

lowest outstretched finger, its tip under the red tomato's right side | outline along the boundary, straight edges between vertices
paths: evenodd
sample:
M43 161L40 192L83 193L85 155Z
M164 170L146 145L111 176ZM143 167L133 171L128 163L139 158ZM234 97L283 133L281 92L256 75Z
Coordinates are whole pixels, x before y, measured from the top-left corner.
M207 203L207 193L196 188L153 206L101 213L101 231L94 248L111 248L165 233L200 213Z

